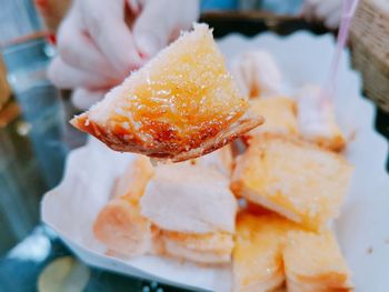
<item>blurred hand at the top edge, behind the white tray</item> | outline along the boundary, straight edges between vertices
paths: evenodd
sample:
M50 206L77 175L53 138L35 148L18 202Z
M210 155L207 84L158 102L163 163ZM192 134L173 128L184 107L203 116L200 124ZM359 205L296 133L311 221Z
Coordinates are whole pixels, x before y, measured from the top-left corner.
M308 20L320 20L329 29L339 28L342 0L305 0L302 16Z

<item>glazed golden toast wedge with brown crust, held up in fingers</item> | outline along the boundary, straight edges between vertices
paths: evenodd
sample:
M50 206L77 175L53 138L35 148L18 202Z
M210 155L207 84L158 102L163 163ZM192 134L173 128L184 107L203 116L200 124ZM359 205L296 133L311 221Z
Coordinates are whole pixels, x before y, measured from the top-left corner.
M113 150L174 162L212 152L262 123L206 24L182 34L88 112L71 120Z

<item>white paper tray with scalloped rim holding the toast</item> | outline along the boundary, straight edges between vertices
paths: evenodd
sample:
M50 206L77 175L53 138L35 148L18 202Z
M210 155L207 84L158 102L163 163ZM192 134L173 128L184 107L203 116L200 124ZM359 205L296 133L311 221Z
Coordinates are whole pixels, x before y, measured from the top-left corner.
M241 51L270 51L287 88L321 83L333 52L330 36L298 32L281 38L265 33L256 38L228 36L220 48L229 60ZM356 138L347 149L356 171L340 218L335 222L339 243L353 273L356 291L389 291L389 177L385 171L387 144L373 130L373 105L360 94L360 78L345 53L339 72L336 112L340 127ZM58 188L42 201L42 219L86 263L166 283L228 291L228 270L198 268L157 256L119 260L104 255L92 236L91 225L108 200L109 189L120 169L132 159L108 150L92 140L68 157L66 174Z

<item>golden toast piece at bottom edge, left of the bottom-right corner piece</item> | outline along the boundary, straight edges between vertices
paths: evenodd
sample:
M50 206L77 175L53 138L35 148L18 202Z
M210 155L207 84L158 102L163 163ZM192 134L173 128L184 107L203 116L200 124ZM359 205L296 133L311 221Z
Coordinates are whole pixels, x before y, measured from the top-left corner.
M282 250L287 231L293 225L277 214L238 214L233 291L273 291L282 285Z

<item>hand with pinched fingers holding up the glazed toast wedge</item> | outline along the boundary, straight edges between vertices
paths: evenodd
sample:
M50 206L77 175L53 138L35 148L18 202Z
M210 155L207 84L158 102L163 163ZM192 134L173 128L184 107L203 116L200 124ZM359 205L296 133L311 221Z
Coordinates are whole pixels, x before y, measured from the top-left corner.
M191 27L198 0L74 0L49 78L87 109Z

